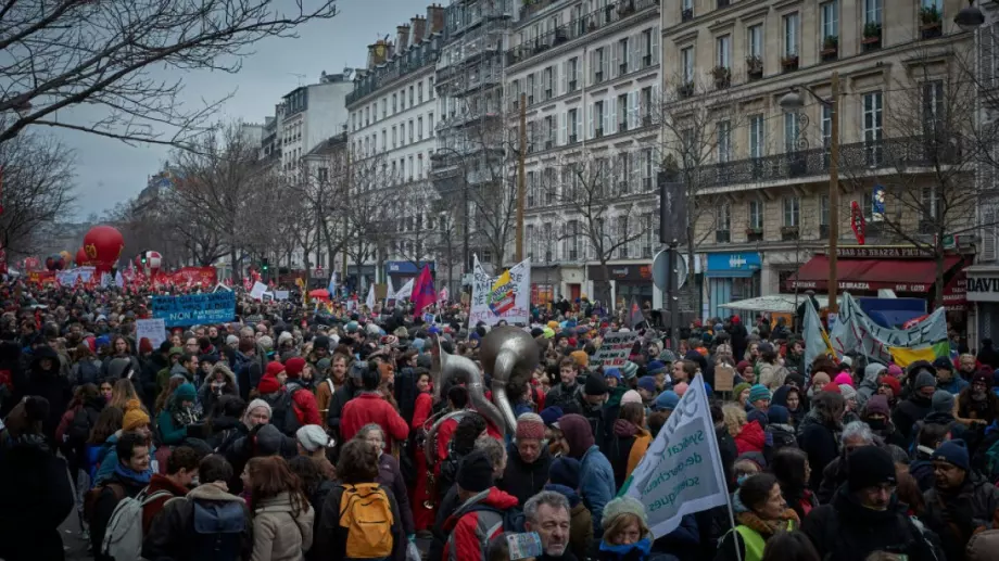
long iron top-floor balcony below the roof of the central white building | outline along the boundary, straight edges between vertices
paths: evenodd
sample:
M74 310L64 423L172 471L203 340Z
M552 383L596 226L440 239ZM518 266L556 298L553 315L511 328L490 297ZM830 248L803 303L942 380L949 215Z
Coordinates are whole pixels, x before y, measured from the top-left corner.
M552 0L534 0L526 4L521 8L521 22L524 20L524 14L529 17L530 14L536 13L551 3ZM560 25L534 41L514 47L506 51L506 62L508 65L519 64L544 53L548 49L585 37L646 10L658 9L658 7L659 0L618 0L605 8L594 10L565 25Z

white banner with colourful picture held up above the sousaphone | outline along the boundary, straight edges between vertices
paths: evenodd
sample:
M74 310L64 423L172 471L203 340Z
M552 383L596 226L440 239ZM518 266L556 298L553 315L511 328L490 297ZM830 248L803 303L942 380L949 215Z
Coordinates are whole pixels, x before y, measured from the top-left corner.
M498 277L492 277L479 265L477 255L471 288L471 311L468 315L469 329L478 326L480 321L486 326L495 326L500 320L527 324L530 318L531 259L524 259Z

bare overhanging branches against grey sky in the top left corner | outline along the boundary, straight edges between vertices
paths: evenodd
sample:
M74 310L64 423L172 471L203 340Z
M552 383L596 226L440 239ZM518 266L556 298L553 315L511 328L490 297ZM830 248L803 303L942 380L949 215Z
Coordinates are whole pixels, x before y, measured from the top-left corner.
M237 73L251 47L294 37L294 28L337 14L334 0L56 0L0 4L0 143L29 125L125 141L187 144L227 98L192 107L182 78L154 74ZM94 120L61 111L98 107ZM58 118L56 118L58 115Z

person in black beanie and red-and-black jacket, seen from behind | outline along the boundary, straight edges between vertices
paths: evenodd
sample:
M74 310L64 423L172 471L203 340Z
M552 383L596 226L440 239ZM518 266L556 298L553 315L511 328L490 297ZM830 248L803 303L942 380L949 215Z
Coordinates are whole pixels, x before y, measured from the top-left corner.
M580 419L589 428L586 420ZM482 559L490 540L504 530L520 530L505 527L510 520L508 511L515 509L518 501L517 497L496 488L494 470L484 450L477 449L461 460L456 482L461 506L444 522L444 532L450 536L441 559Z

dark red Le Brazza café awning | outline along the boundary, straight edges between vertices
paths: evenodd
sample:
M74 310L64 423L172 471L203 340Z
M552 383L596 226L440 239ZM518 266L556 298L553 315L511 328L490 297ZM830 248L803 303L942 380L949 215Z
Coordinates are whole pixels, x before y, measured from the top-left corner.
M951 322L962 321L966 313L964 269L971 256L944 255L944 302L933 302L937 282L936 259L908 246L840 246L837 252L836 284L839 292L855 296L877 296L890 290L899 297L927 299L927 308L947 306ZM829 292L829 256L815 255L787 279L788 292Z

